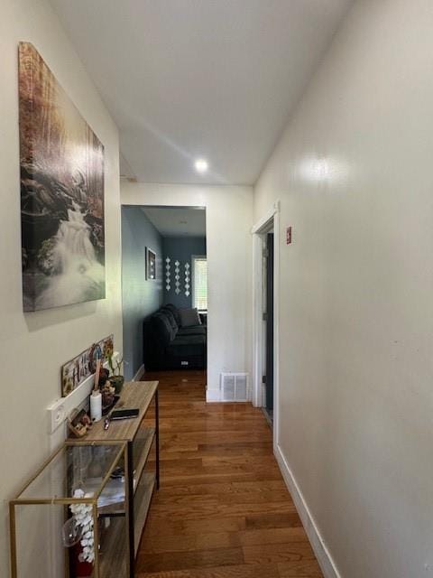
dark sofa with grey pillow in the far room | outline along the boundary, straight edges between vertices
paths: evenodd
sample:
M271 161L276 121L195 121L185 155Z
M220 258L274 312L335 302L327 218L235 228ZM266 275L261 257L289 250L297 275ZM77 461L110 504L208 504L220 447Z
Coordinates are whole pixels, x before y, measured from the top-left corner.
M206 368L206 342L205 323L182 327L179 309L172 304L164 305L143 322L144 367L146 370Z

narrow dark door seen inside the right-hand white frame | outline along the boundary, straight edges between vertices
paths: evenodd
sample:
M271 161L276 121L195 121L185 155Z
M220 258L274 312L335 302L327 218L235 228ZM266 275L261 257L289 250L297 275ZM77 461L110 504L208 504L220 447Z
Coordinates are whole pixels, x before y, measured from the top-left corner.
M273 233L266 235L266 409L273 410Z

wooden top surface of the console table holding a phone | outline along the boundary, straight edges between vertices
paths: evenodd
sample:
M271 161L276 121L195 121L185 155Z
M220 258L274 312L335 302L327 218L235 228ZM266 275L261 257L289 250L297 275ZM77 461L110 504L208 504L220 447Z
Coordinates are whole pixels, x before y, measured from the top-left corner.
M134 440L144 414L147 412L152 397L158 388L158 381L129 381L124 384L119 401L115 409L138 408L139 415L133 419L116 420L104 429L103 417L92 429L81 438L83 442L128 441Z

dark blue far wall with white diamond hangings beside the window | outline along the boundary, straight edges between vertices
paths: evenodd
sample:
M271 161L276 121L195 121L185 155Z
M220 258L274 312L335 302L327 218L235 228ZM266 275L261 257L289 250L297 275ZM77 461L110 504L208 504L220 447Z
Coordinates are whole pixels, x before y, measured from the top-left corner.
M192 305L192 262L193 255L206 255L205 237L165 237L162 238L163 268L164 268L164 303L173 303L180 309L189 308ZM165 266L166 257L170 257L170 291L166 289ZM175 289L175 261L180 262L180 294ZM190 287L189 295L185 294L185 264L189 263Z

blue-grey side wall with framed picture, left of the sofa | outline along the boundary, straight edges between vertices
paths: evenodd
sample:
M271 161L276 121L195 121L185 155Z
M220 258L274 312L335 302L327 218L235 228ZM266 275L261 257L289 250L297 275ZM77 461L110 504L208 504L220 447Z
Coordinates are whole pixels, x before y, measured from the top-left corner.
M156 253L156 279L146 280L145 247ZM124 377L143 364L143 319L162 304L162 238L140 207L122 207Z

